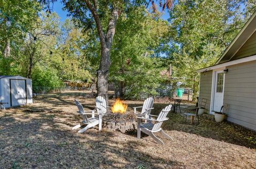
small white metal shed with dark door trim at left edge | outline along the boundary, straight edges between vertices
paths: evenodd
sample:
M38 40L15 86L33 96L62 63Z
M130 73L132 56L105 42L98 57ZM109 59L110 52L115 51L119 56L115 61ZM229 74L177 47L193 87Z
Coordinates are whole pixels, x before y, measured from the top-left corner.
M20 76L0 75L1 108L33 103L32 80Z

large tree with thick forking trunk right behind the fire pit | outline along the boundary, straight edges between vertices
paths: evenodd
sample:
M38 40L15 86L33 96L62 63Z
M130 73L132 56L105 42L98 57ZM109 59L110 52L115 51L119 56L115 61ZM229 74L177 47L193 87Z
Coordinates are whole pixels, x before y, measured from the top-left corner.
M49 2L57 0L39 0L46 4L47 11L50 11ZM153 11L156 11L154 1L149 0L62 0L71 16L77 21L79 26L84 29L96 27L100 40L101 58L99 69L97 70L97 91L99 96L103 96L108 101L108 76L110 68L110 50L113 37L116 31L116 22L119 14L129 11L133 6L147 5L153 6ZM159 1L163 9L171 7L171 1Z

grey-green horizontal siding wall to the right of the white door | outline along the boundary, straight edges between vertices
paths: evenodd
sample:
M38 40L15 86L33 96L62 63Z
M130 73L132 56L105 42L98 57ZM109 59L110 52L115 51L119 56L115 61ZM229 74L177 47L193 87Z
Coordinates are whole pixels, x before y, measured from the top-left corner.
M228 121L256 131L256 62L229 66L223 103Z

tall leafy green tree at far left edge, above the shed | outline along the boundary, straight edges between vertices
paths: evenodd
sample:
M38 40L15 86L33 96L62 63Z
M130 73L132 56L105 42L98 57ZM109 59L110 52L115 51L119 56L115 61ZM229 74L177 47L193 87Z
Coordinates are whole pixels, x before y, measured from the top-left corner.
M19 45L40 10L39 3L34 1L0 0L1 74L11 73L11 63L17 58Z

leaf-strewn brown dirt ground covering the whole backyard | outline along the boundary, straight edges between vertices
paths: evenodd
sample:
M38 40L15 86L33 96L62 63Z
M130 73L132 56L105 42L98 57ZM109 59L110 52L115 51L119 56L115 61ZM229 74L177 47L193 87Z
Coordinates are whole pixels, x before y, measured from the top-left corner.
M94 99L77 97L85 109ZM34 104L0 111L0 168L256 168L256 133L212 116L195 126L170 112L163 129L174 141L159 136L158 145L137 131L71 130L81 121L70 96L47 95ZM114 100L110 100L113 103ZM142 101L126 100L129 110ZM155 100L153 114L168 103ZM181 105L182 109L191 104Z

